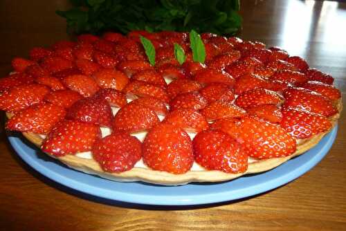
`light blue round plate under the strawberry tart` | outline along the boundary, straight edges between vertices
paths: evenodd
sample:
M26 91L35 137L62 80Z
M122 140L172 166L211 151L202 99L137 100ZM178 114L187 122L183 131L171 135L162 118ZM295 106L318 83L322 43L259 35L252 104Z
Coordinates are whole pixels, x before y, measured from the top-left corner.
M147 183L118 183L84 174L40 154L21 138L9 140L19 156L53 181L86 194L116 201L147 205L201 205L232 201L260 194L289 183L309 171L327 154L336 138L337 127L304 155L262 174L244 176L225 183L190 183L183 186L158 186Z

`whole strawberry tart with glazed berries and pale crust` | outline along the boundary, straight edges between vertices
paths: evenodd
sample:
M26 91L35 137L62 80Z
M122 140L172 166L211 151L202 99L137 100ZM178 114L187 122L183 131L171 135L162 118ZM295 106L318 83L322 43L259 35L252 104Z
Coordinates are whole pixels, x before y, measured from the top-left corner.
M282 48L204 33L201 63L188 33L106 35L33 48L0 80L6 128L86 174L230 181L308 151L342 110L333 77ZM140 36L152 41L154 66Z

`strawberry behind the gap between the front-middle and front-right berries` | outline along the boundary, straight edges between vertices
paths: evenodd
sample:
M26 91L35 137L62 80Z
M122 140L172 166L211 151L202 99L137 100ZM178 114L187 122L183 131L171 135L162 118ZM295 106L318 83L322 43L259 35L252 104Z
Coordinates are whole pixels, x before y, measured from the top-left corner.
M194 109L176 109L168 113L163 122L173 124L185 131L198 133L208 129L209 124L204 116Z

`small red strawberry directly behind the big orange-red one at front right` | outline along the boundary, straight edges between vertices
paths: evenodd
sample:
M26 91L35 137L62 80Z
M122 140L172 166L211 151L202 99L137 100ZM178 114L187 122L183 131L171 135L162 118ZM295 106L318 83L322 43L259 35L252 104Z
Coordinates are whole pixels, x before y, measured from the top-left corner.
M282 113L280 108L273 104L264 104L254 107L246 108L250 115L255 115L269 122L280 122L282 120Z

